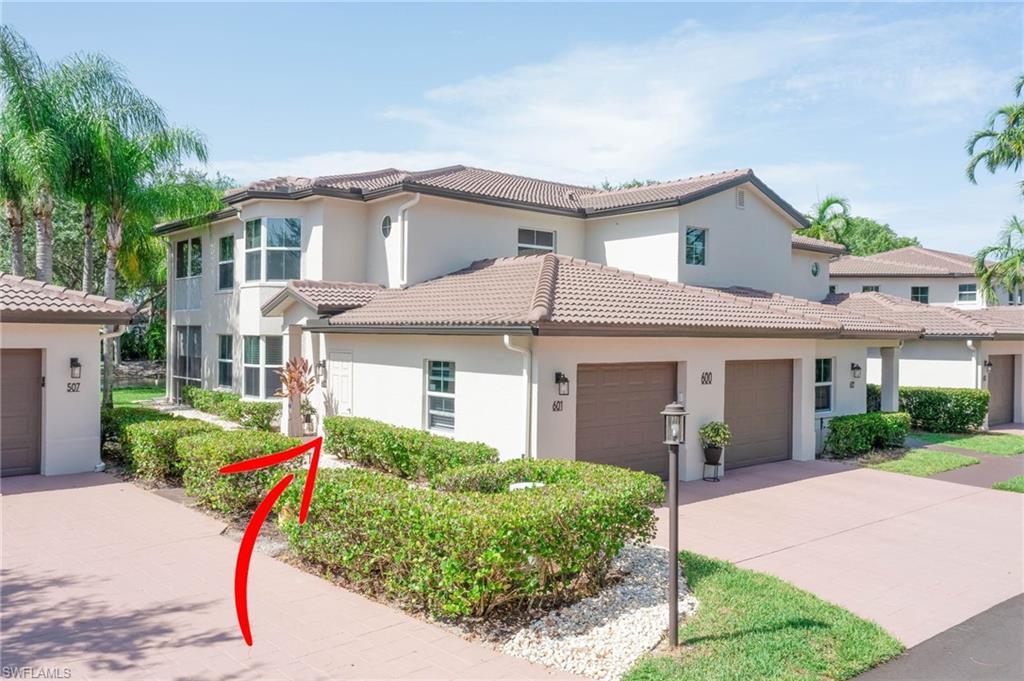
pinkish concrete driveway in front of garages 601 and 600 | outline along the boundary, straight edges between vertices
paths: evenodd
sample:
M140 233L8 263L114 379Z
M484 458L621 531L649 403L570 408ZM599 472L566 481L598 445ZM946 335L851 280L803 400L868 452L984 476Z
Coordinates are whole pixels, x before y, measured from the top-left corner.
M907 646L1024 592L1024 495L824 461L680 490L681 548L775 574Z

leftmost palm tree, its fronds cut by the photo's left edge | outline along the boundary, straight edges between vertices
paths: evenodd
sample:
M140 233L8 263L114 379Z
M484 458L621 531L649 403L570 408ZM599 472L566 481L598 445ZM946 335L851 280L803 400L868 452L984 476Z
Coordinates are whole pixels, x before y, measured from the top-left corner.
M36 278L53 278L53 204L62 187L69 152L48 70L11 28L0 26L0 135L12 172L28 188L36 218Z

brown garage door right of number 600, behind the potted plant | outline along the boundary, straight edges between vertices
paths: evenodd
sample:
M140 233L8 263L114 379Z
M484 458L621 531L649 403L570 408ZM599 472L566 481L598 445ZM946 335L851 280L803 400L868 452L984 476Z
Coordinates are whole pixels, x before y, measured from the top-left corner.
M790 459L793 361L725 363L725 422L732 430L727 469Z

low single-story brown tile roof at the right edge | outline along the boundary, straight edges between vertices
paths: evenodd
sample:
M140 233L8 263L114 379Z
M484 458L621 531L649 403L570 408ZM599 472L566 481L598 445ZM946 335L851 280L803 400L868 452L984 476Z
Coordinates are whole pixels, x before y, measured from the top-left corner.
M925 338L1024 336L1024 307L964 310L877 292L834 293L824 302L858 314L921 327Z

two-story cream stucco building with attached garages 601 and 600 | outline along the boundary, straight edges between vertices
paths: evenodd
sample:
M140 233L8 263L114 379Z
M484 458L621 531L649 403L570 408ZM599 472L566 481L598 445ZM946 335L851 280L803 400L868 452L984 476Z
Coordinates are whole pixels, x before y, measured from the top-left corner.
M168 395L270 399L290 356L321 417L482 440L504 458L665 474L658 412L724 420L726 468L812 459L864 411L868 349L895 409L922 329L820 302L842 247L752 171L635 189L454 166L281 177L229 191L169 240Z

